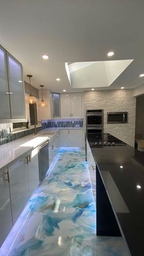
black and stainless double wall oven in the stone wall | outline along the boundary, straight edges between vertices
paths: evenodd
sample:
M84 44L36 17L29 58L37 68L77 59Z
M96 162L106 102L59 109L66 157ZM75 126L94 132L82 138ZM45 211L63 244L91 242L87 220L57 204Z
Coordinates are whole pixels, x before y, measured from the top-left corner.
M88 109L86 112L86 133L88 141L102 141L103 109Z

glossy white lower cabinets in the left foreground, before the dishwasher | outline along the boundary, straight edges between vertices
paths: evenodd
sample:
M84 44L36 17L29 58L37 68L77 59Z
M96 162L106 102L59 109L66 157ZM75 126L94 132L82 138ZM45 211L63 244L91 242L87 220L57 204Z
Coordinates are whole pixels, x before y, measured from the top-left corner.
M0 170L0 247L39 183L38 148Z

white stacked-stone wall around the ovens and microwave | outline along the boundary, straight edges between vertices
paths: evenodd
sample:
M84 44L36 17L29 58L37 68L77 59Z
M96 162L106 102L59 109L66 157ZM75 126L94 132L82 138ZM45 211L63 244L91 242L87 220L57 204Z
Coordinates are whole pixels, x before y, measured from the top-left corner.
M86 109L104 109L104 133L111 133L134 147L135 98L133 90L98 90L84 93L84 124ZM107 112L128 111L128 123L107 123Z

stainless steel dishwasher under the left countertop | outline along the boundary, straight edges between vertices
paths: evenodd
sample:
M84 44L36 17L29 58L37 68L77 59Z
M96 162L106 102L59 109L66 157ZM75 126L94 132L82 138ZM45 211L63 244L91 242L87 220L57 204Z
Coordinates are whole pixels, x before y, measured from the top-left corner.
M46 172L49 169L49 140L39 145L39 172L40 182L45 178Z

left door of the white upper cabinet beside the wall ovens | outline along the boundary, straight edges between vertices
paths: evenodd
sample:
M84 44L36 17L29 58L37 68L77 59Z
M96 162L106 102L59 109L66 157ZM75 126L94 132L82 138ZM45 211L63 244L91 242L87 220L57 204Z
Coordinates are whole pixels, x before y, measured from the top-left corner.
M61 117L71 117L71 93L60 94Z

